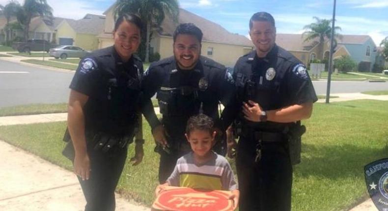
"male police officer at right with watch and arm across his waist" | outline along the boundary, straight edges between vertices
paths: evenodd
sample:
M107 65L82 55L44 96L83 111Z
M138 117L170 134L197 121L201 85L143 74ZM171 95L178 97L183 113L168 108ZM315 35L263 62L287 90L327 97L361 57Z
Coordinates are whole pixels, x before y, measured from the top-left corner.
M290 153L300 147L300 120L310 117L317 97L305 65L275 44L274 18L255 13L249 29L256 50L240 57L233 73L241 111L234 125L240 211L290 211Z

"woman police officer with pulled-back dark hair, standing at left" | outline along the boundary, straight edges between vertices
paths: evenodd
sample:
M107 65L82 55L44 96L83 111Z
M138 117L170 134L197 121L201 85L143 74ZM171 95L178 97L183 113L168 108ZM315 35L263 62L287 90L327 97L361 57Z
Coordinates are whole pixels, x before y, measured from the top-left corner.
M70 84L68 130L74 146L74 172L86 199L86 211L113 211L114 189L137 122L142 63L133 55L142 24L135 15L120 16L114 45L90 53ZM143 157L136 143L134 164Z

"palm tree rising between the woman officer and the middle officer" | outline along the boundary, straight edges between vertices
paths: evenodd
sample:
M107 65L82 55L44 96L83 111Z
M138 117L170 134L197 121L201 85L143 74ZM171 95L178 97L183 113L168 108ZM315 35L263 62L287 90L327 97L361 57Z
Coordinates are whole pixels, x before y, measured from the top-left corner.
M145 62L149 62L149 42L152 27L160 26L168 15L174 22L178 22L179 4L177 0L117 0L115 17L124 13L140 16L146 26L145 29Z

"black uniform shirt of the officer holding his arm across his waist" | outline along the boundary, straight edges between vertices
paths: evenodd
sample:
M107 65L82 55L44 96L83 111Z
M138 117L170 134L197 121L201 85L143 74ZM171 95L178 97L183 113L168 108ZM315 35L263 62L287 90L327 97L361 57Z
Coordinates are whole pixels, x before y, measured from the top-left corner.
M259 58L256 51L240 57L235 65L233 78L236 81L240 105L250 98L263 110L274 110L318 100L305 65L277 45L264 58ZM246 84L249 80L253 84L253 93L247 93L249 91ZM250 126L273 132L281 132L282 126L287 125L270 121L245 122Z

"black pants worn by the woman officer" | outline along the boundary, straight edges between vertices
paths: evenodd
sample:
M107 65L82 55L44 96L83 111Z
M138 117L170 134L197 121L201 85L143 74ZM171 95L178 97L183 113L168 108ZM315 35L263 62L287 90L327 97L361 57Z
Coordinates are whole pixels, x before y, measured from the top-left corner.
M86 199L85 211L114 211L114 190L127 158L127 147L113 148L112 152L88 150L90 178L78 180Z

